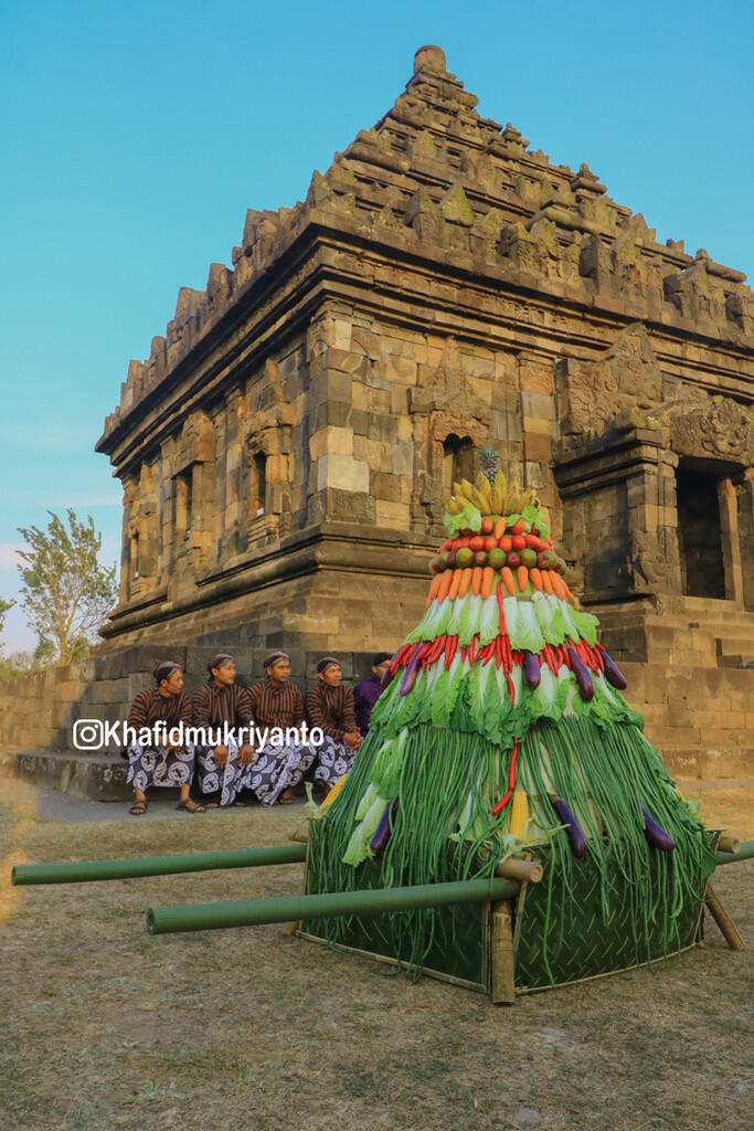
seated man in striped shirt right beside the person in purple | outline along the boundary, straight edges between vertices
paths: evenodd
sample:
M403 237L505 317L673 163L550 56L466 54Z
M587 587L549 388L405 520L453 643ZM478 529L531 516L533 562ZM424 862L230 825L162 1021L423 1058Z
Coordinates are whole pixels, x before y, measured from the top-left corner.
M356 726L354 692L344 688L341 680L340 663L324 656L317 665L317 683L306 692L306 722L310 729L319 727L324 735L314 780L324 784L326 793L348 772L363 741Z

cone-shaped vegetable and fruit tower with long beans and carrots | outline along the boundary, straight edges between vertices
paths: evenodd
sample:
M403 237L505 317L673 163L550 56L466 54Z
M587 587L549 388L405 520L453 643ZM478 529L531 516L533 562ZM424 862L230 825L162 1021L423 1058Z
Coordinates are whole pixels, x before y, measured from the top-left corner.
M426 612L312 821L307 890L489 877L535 851L546 875L517 925L527 987L678 951L696 936L714 846L621 694L597 618L574 607L536 494L494 458L453 490ZM423 909L376 933L353 918L317 933L419 972L462 948L463 930Z

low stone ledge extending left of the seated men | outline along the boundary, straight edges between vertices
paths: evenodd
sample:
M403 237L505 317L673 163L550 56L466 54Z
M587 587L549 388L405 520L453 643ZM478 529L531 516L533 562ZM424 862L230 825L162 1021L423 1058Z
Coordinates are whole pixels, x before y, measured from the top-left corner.
M60 789L89 801L129 801L128 762L107 754L66 750L0 750L0 777ZM173 791L166 791L173 793ZM177 795L177 791L175 791Z

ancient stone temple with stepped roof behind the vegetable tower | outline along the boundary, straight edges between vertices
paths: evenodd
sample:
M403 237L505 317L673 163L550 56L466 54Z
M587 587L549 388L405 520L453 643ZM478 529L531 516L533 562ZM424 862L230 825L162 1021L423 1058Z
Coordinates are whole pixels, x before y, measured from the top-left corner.
M270 647L303 683L324 653L364 674L419 618L443 498L489 446L539 490L670 767L743 772L752 292L477 101L422 48L305 200L250 210L233 268L181 290L96 446L123 484L104 644L28 681L6 743L122 716L163 654L191 675L222 646L245 682Z

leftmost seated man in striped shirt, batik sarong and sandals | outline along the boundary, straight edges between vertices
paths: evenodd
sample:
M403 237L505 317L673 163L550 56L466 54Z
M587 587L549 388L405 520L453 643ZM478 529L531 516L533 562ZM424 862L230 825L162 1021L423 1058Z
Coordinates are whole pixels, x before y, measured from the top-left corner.
M183 671L172 659L163 661L154 672L155 687L140 691L131 705L128 725L139 740L128 749L128 780L133 784L135 801L130 812L141 817L147 811L145 791L150 786L180 786L177 809L203 813L205 806L189 797L193 776L193 750L190 743L171 739L171 729L191 725L191 702L183 694ZM141 741L151 731L148 741ZM177 737L177 735L176 735Z

